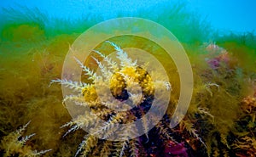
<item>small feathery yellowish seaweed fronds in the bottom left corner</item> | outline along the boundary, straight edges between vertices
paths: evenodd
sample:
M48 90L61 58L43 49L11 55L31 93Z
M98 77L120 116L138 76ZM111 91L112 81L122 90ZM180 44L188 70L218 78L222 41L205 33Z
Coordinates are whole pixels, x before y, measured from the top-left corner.
M30 121L26 123L26 125L20 127L17 131L11 132L8 136L3 137L0 145L0 148L4 151L3 156L36 157L51 151L51 149L42 151L32 150L29 140L36 134L32 133L31 135L22 137L22 134L25 132L26 126L28 126L29 123Z

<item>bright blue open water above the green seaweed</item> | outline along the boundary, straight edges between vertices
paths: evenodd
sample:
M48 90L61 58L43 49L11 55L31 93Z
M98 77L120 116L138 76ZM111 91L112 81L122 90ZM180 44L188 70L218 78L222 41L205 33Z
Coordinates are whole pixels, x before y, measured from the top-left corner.
M157 10L177 0L3 0L2 8L37 7L51 17L77 19L84 14L101 15L105 19L119 13L132 14L139 10ZM188 10L207 19L218 31L247 32L256 30L256 0L184 0ZM154 12L155 13L155 12ZM157 13L157 11L156 11Z

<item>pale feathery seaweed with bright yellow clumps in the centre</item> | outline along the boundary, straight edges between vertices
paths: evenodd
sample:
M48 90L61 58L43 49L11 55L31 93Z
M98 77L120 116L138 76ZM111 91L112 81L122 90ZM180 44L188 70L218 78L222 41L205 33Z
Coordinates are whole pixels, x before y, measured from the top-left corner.
M78 93L77 95L67 95L63 100L64 103L73 102L75 105L82 106L81 110L84 109L83 107L90 108L90 110L85 109L81 115L76 116L72 121L64 125L71 127L64 136L79 128L96 128L95 131L93 130L93 133L101 132L101 130L104 131L102 134L103 137L98 137L95 134L85 136L83 142L79 145L76 155L82 154L86 156L89 153L100 155L104 153L102 151L106 152L111 149L117 150L114 154L123 154L124 151L129 150L128 148L124 148L119 152L119 147L123 147L124 144L133 145L134 150L132 151L135 151L137 146L134 144L137 143L138 138L131 140L129 138L130 133L133 136L133 134L137 134L142 129L143 132L146 132L145 136L148 137L148 131L151 129L148 122L151 124L153 121L158 121L158 119L153 118L150 121L143 120L142 124L139 124L143 128L134 125L135 129L129 129L129 132L128 130L127 132L122 130L122 128L116 130L115 125L129 124L132 121L139 120L150 108L154 109L153 112L151 111L151 114L153 114L153 117L156 117L163 108L163 104L165 102L168 103L168 98L162 92L164 91L167 96L170 95L168 93L171 91L170 82L164 77L161 78L161 74L157 70L154 73L150 71L149 74L146 68L144 68L147 67L148 63L140 66L137 64L137 60L133 61L123 49L119 48L113 42L108 43L116 50L116 59L119 60L112 60L108 56L105 56L105 54L94 51L103 60L100 62L98 59L92 57L99 67L96 72L85 66L79 59L76 59L83 69L84 75L88 76L91 83L68 81L67 79L52 81L59 82L63 87L68 87ZM155 106L153 104L154 101L156 102L154 103ZM101 124L102 120L105 121L103 124ZM160 130L160 133L166 134L169 138L169 135L165 132L163 129ZM122 134L122 136L124 134L125 141L114 142L115 144L111 145L116 146L110 148L112 147L109 145L111 142L105 140L105 138L113 137L116 134ZM97 143L96 141L99 138L103 138L104 141ZM102 147L96 147L98 144L101 144ZM101 151L98 148L105 149ZM137 154L137 152L131 154Z

